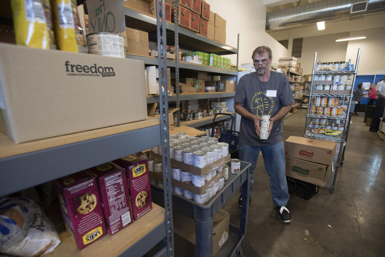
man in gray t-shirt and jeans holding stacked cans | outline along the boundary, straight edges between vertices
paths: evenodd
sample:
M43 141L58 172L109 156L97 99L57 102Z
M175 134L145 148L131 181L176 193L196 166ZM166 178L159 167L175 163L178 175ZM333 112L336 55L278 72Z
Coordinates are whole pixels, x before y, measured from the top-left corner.
M281 118L285 117L294 103L288 78L283 73L269 70L272 53L269 47L259 46L252 55L255 73L239 79L234 98L234 110L242 116L239 131L239 158L251 163L250 195L253 193L253 172L259 152L262 152L264 166L270 176L273 203L280 219L291 221L287 208L289 200L285 175L285 150ZM262 115L270 115L268 139L259 139ZM239 198L241 205L242 197Z

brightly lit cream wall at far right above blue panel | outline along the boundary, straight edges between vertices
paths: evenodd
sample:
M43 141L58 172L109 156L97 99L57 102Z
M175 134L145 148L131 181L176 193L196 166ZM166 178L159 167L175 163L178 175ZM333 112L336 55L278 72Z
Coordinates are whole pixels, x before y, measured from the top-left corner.
M385 27L350 32L350 37L367 36L366 39L348 41L346 60L356 63L361 48L358 74L385 74Z

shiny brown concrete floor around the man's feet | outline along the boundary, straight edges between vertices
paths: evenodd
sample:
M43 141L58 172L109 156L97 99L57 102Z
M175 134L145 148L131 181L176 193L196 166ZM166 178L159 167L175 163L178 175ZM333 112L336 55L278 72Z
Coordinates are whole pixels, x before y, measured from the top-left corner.
M283 135L303 136L306 110L283 123ZM320 188L309 201L290 195L291 223L282 223L274 209L269 176L258 158L249 207L244 257L383 257L385 256L385 142L352 116L345 161L334 194ZM238 195L223 207L239 224ZM330 225L330 226L328 226Z

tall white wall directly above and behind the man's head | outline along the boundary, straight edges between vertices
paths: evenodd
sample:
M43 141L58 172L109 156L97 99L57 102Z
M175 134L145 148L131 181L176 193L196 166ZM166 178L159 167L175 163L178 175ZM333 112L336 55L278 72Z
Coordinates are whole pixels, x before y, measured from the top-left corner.
M291 51L265 32L266 7L256 0L210 0L210 10L226 19L226 44L237 47L239 33L239 64L251 63L251 54L258 46L268 46L273 52L273 63L279 57L291 56ZM227 56L236 63L235 54Z

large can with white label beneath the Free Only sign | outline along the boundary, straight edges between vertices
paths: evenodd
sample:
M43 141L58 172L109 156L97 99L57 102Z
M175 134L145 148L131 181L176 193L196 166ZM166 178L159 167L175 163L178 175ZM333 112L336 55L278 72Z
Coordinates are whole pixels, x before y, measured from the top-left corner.
M85 37L90 54L126 58L126 39L123 36L99 32L87 34Z

